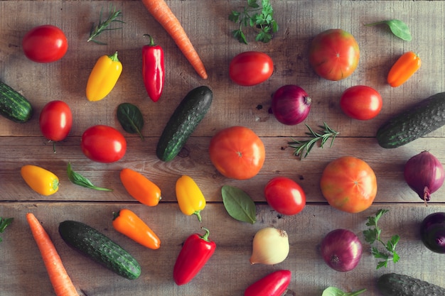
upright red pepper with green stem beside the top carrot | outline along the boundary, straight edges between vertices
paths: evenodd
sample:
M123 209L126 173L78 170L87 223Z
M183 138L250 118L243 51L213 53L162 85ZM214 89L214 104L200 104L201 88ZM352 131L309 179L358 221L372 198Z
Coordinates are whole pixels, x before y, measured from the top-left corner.
M150 38L150 43L142 48L142 77L147 94L153 102L158 102L163 90L165 80L163 65L163 49L154 44L151 35L145 34Z

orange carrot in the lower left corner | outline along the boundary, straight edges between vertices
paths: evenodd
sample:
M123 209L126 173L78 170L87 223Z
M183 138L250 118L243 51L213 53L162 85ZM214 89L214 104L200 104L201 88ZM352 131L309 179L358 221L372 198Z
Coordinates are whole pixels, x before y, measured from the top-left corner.
M63 266L62 259L60 259L53 241L50 239L50 236L48 236L45 229L43 229L43 226L40 224L34 214L26 214L26 220L31 228L31 232L33 233L38 249L41 251L43 263L45 263L46 271L50 277L55 295L79 296L73 282L71 282L70 276Z

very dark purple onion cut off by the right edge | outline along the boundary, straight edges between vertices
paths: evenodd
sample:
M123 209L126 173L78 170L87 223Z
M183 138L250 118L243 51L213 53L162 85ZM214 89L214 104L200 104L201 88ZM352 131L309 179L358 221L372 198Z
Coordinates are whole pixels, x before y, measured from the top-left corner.
M435 253L445 253L445 213L437 212L425 217L420 225L422 243Z

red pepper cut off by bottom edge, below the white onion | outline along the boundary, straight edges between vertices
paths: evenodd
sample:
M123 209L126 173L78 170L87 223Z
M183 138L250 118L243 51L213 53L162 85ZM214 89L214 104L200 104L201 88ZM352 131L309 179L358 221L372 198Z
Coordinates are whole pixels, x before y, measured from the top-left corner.
M277 270L257 280L244 292L245 296L281 296L291 283L290 270Z

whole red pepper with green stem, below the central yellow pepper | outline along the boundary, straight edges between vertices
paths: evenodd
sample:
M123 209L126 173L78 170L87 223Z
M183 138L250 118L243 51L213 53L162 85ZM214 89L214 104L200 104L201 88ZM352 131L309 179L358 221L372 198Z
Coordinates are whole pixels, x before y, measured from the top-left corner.
M200 234L188 236L176 259L173 268L173 279L176 285L190 282L215 253L216 243L208 239L210 231L204 227L202 229L205 230L203 236Z

